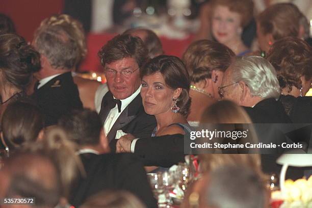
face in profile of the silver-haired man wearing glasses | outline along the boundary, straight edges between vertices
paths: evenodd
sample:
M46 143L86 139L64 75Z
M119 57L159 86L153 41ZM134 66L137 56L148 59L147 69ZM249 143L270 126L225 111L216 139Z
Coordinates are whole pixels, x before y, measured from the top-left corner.
M238 83L234 83L231 78L231 66L226 69L222 83L220 86L219 94L221 92L222 96L221 98L231 100L238 105L240 105L240 94L239 94L239 88L238 88Z

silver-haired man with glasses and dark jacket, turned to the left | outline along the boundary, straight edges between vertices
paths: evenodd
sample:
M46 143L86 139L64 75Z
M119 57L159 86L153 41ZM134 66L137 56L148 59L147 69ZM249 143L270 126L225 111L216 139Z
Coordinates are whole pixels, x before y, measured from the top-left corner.
M277 101L280 89L275 69L262 57L237 58L225 71L219 94L244 106L253 123L291 123Z

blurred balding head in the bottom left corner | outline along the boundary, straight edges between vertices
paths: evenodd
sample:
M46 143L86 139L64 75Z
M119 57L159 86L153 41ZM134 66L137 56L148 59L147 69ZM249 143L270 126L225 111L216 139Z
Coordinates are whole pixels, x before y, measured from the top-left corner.
M61 184L55 164L47 157L16 153L0 172L0 197L34 197L36 206L54 207L60 199Z

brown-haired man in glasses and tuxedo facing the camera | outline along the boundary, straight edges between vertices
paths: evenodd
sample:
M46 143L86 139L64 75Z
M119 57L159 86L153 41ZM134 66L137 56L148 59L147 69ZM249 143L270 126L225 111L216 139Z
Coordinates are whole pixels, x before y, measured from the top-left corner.
M99 116L111 150L115 152L116 140L124 133L150 137L156 126L154 116L145 113L140 95L140 68L148 52L140 38L117 35L98 55L109 88L102 98Z

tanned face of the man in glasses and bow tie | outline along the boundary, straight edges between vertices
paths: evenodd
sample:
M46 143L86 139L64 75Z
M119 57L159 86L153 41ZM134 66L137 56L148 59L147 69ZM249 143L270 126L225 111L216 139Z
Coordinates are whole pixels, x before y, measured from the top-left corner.
M141 85L140 70L135 59L123 58L110 64L105 64L107 85L116 99L125 99L131 96ZM109 74L107 71L117 71ZM122 71L134 71L130 75L124 75Z

